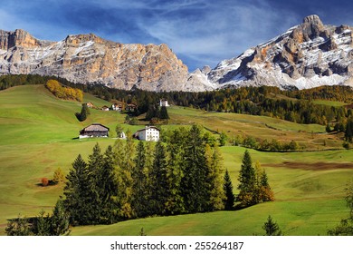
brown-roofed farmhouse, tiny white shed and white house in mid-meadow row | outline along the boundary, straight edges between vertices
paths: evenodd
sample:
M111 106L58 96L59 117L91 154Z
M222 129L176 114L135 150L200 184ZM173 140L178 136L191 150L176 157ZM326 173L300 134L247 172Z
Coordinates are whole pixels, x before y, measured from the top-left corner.
M109 132L110 128L107 126L100 123L92 123L80 131L79 138L106 138L109 136ZM133 137L140 141L157 142L159 141L159 132L160 130L155 126L146 126L144 129L135 132ZM126 134L121 132L119 139L126 139Z

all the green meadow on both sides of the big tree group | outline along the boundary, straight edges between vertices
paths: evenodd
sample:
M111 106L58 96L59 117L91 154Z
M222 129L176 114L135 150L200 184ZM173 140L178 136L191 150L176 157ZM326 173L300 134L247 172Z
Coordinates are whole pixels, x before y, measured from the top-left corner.
M84 103L88 102L110 105L85 94ZM115 142L112 138L79 140L83 127L100 122L114 133L120 123L125 130L134 132L145 123L126 125L125 114L93 109L85 122L79 122L75 112L80 111L81 103L58 100L43 85L17 86L0 92L0 235L5 235L8 219L52 210L62 195L63 184L41 187L41 178L52 179L53 171L59 167L67 173L76 156L81 153L87 159L96 142L102 150ZM244 210L77 227L72 229L72 235L138 235L141 228L148 235L262 235L262 224L268 215L278 222L285 235L325 235L348 216L344 188L353 179L353 151L341 150L339 137L326 134L325 126L182 107L170 107L168 113L171 120L163 129L196 122L228 136L247 134L262 139L296 140L311 151L250 151L253 161L260 161L266 169L274 202ZM328 151L329 148L340 150ZM236 193L245 149L224 146L221 151Z

